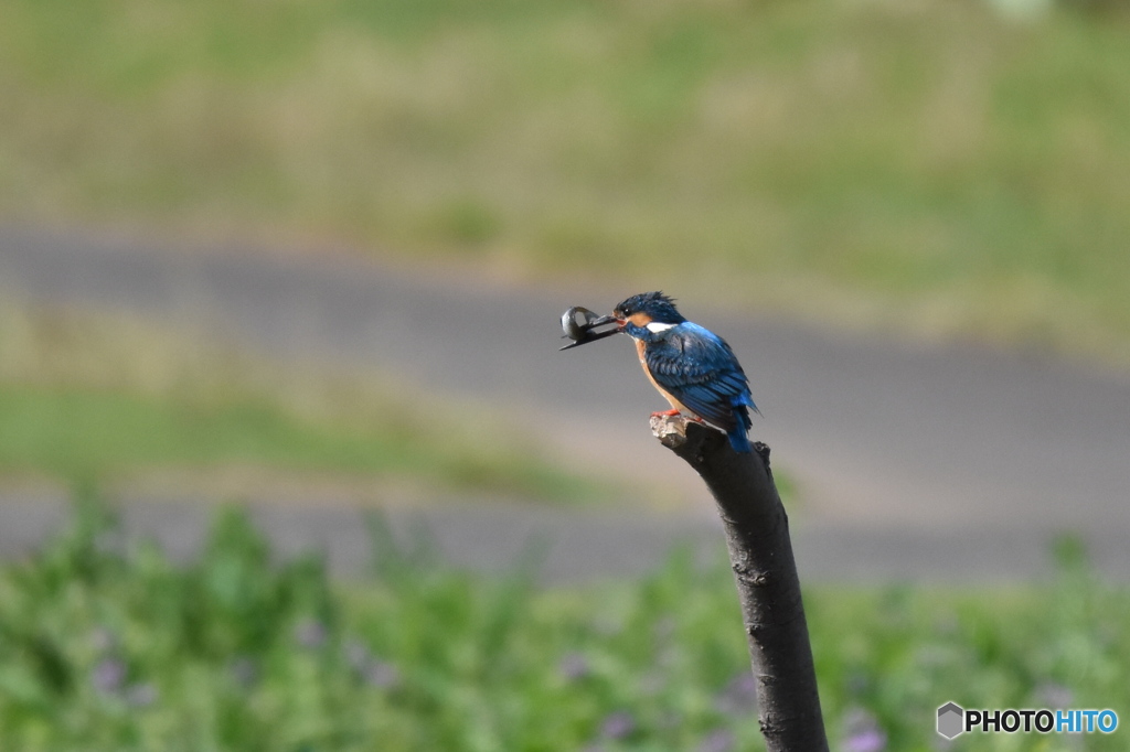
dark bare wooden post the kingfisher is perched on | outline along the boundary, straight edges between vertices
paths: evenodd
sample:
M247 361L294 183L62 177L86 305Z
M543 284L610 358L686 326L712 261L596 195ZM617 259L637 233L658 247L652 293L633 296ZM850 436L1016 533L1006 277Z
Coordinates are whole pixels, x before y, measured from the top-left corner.
M706 481L718 502L768 752L826 752L789 517L770 472L770 448L758 441L751 454L738 454L725 435L683 416L654 416L651 429Z

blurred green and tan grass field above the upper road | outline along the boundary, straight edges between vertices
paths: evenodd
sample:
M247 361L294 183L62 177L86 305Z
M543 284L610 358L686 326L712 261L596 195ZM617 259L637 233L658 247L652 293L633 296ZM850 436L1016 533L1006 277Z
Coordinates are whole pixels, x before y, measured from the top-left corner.
M1119 3L0 14L9 218L332 238L1130 361Z

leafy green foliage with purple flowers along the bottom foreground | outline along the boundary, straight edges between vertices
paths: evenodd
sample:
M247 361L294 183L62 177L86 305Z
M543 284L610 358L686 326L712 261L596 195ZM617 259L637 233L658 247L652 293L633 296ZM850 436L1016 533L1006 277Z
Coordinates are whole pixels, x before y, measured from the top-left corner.
M271 563L244 514L199 561L123 546L81 498L41 553L0 566L6 750L497 752L764 749L731 575L675 556L652 575L544 589L485 578L427 545L331 583L316 557ZM935 714L1127 707L1130 598L1079 556L1029 587L809 587L833 749L937 749ZM871 741L860 746L861 740ZM973 735L947 749L1121 750Z

